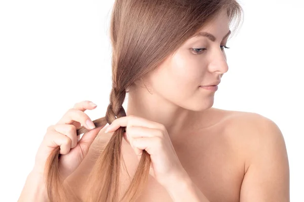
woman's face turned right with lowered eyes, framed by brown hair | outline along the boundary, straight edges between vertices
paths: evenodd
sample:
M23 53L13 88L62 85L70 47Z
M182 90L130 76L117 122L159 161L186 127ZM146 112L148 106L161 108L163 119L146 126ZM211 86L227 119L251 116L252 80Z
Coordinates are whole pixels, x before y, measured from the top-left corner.
M193 111L212 107L215 91L200 86L220 81L228 71L223 47L230 32L226 11L222 10L200 32L213 36L202 34L188 39L144 80L153 94Z

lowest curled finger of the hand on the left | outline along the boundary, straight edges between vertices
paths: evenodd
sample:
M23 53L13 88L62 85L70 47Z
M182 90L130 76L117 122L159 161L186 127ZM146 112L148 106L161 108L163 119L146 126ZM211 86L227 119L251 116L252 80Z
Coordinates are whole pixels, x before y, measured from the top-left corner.
M68 136L61 134L55 130L49 131L45 135L44 139L44 142L49 147L55 148L57 146L60 146L59 154L66 155L71 149L72 140Z

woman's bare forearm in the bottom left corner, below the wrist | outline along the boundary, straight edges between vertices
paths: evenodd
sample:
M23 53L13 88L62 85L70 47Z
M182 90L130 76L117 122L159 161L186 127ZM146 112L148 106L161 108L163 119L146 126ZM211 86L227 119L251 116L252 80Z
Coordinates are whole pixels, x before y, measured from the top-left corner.
M48 201L45 180L42 174L34 171L27 176L18 202Z

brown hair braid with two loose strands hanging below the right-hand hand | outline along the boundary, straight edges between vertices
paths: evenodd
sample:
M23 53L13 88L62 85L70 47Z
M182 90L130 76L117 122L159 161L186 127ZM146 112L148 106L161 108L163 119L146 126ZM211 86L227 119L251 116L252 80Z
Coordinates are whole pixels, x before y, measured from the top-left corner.
M110 104L107 107L105 116L107 123L111 124L116 118L126 116L122 107L125 96L125 90L119 91L115 87L112 88ZM96 161L91 176L96 176L95 172L100 172L100 170L102 175L99 179L90 178L91 188L87 192L88 201L119 201L120 162L123 160L121 146L125 128L121 127L113 133L100 158ZM124 161L122 162L125 166ZM122 201L135 201L138 198L148 180L149 169L150 156L144 150L132 182L121 199ZM101 189L98 189L98 187L101 187ZM106 192L108 189L111 191ZM99 194L96 194L96 191Z

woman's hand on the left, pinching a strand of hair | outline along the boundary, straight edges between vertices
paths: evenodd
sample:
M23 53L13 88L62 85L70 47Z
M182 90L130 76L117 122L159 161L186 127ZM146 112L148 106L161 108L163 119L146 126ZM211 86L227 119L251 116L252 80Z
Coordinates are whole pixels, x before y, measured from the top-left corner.
M95 128L92 120L84 113L86 110L95 108L96 105L89 101L77 103L63 115L57 124L48 127L47 133L36 153L33 172L44 174L46 161L51 151L58 146L60 146L59 154L61 154L59 172L63 180L80 165L101 129L101 127ZM85 133L80 139L76 129L81 124L90 131Z

